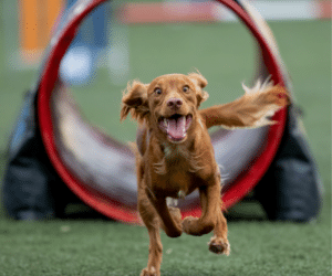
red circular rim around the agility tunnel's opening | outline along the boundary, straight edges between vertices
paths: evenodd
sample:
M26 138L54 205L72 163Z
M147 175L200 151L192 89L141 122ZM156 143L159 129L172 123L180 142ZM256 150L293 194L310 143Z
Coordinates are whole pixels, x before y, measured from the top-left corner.
M138 223L139 217L135 205L121 202L112 195L103 193L103 191L96 189L95 187L90 187L86 183L91 181L91 179L87 179L84 182L82 181L82 179L80 179L77 172L69 168L68 162L65 162L64 157L62 156L60 150L61 145L58 141L59 134L56 134L58 130L55 127L59 118L54 115L53 112L53 109L55 108L54 95L58 92L59 94L61 94L60 92L63 92L65 88L64 84L62 84L58 77L60 62L63 59L71 41L74 39L75 33L83 19L89 15L89 13L93 9L105 1L106 0L77 1L72 11L69 13L65 24L60 30L58 30L52 38L48 49L44 67L41 74L40 86L38 89L38 124L45 151L55 171L59 173L65 184L83 202L108 217L125 223ZM281 65L279 64L273 50L270 47L267 38L262 34L252 17L249 15L249 13L246 12L246 10L236 1L218 1L229 10L231 10L248 28L252 36L258 42L261 55L263 56L264 65L268 68L272 81L276 84L284 86L286 82L283 79ZM240 201L263 177L279 148L286 126L286 109L282 109L274 115L273 119L279 124L269 127L264 150L251 162L250 169L243 173L240 173L237 179L224 191L222 200L226 208L229 208L236 202ZM131 164L134 163L134 156L125 145L122 145L114 139L106 137L93 127L90 127L89 131L92 135L97 134L94 136L97 136L98 141L102 140L101 142L105 147L110 147L110 150L112 152L115 152L114 157L118 157L120 159L125 158ZM193 206L183 210L183 215L199 216L199 205L193 204Z

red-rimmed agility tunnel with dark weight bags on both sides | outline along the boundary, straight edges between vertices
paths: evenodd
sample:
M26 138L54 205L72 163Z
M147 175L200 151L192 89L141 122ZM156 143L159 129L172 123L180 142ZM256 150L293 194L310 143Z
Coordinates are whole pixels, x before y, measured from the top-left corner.
M81 22L103 2L77 1L71 9L51 39L40 77L24 100L9 148L3 188L4 205L12 217L56 216L56 210L65 205L60 192L62 182L107 217L139 223L134 155L127 145L84 119L59 76L60 63ZM274 84L291 91L278 46L263 19L246 1L217 2L234 12L256 40L259 62L253 71L258 77L270 76ZM228 178L222 187L225 206L256 191L269 219L312 220L320 208L320 180L299 130L298 116L290 106L273 119L278 124L270 127L220 129L211 135L217 162L226 168ZM184 216L199 216L198 193L180 202L180 209Z

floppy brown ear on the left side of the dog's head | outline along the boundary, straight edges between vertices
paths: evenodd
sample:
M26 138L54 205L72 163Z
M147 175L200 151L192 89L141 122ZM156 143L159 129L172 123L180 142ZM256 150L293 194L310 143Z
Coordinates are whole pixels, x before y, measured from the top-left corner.
M133 81L127 84L127 88L122 97L122 108L120 113L121 120L124 120L131 113L133 119L143 120L149 113L147 103L148 84L143 84L139 81Z

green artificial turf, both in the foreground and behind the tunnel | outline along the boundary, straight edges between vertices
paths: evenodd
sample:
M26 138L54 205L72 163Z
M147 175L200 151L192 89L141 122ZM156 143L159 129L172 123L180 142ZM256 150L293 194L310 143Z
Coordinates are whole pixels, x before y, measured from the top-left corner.
M3 36L0 24L0 35ZM264 220L260 208L242 202L229 210L229 257L208 252L209 236L163 233L162 274L168 276L331 275L331 22L272 22L291 74L311 150L324 182L319 220L310 224ZM252 40L239 24L184 24L128 29L131 77L149 82L165 73L198 68L209 81L210 99L240 95L253 75ZM23 93L34 70L8 66L0 42L0 179L6 147ZM106 70L74 89L86 117L121 140L134 138L135 125L118 121L121 91ZM220 94L220 92L222 92ZM240 217L240 219L239 219ZM0 275L138 275L147 261L146 230L103 220L14 222L0 213Z

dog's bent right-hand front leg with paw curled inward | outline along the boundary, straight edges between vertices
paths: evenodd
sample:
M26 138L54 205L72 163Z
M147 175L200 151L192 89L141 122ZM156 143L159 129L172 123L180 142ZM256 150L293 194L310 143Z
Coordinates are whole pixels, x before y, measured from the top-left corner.
M199 189L201 216L187 216L183 221L183 230L189 235L200 236L211 232L217 224L217 210L221 208L220 185L216 184Z

